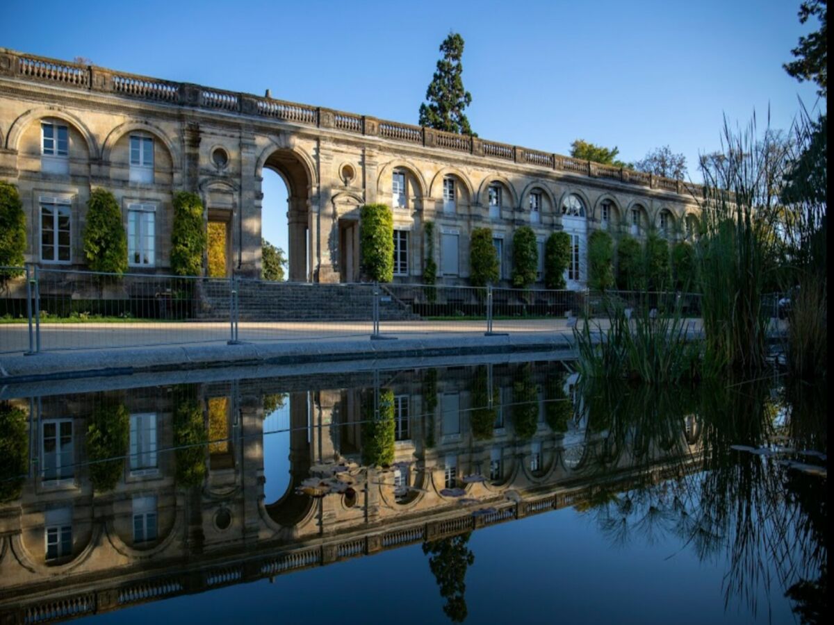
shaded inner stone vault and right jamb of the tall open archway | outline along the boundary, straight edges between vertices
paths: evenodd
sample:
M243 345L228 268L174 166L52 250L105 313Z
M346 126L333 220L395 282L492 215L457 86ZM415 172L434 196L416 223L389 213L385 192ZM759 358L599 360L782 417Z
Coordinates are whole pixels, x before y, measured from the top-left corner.
M290 282L310 282L314 263L309 251L310 197L314 184L314 169L307 159L291 148L273 148L264 152L257 175L263 183L264 169L277 173L287 188L287 253ZM262 212L264 205L262 203ZM261 214L259 227L263 223Z

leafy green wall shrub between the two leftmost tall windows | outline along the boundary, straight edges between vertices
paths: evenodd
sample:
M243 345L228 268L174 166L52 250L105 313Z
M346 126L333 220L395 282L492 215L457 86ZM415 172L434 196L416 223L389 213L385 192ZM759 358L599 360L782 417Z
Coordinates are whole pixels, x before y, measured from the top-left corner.
M128 235L122 211L107 189L97 188L90 193L83 243L84 258L92 271L121 275L128 270Z

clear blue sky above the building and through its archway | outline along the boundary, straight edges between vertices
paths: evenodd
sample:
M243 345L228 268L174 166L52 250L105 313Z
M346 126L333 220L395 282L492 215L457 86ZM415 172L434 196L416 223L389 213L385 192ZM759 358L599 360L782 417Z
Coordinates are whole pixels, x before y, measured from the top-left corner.
M37 5L37 11L35 6ZM417 122L438 47L465 39L481 137L625 161L668 144L696 178L723 116L788 128L816 88L782 69L799 0L759 2L32 2L7 0L0 45L127 72ZM760 121L761 127L761 121ZM264 235L286 249L285 190L264 184Z

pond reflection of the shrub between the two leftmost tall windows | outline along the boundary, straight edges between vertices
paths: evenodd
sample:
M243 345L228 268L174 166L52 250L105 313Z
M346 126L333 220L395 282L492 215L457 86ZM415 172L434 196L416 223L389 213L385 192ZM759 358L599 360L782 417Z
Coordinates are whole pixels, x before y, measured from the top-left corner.
M128 452L130 415L121 400L104 398L90 415L87 426L87 457L90 483L97 493L116 488L124 472Z

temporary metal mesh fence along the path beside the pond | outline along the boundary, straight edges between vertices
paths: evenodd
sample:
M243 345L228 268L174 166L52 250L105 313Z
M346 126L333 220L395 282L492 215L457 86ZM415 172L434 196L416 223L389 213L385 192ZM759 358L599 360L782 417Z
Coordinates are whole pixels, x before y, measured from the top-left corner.
M771 295L763 305L775 316L778 301ZM32 265L0 267L0 353L570 332L581 319L604 326L611 306L701 317L701 298L692 293L275 283Z

